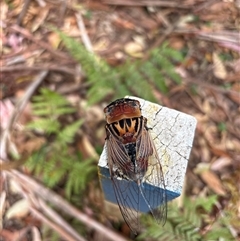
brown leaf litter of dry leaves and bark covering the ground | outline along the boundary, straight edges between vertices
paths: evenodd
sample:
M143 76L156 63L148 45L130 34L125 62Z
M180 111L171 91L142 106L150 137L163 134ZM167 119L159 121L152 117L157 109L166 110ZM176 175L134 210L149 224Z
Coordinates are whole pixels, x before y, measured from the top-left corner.
M79 63L76 63L63 48L59 36L50 26L58 27L82 42L79 19L76 17L76 14L80 13L95 53L113 68L120 66L129 58L131 61L139 58L147 59L147 54L152 48L160 46L163 40L167 41L170 47L186 53L184 62L176 66L183 83L171 84L167 95L157 89L154 89L153 93L162 105L191 114L198 120L186 175L187 191L184 195L197 199L199 196L217 194L221 204L219 213L236 214L237 221L231 223L229 230L238 240L240 237L238 1L193 0L179 3L176 0L162 2L163 5L159 7L160 2L139 1L137 4L131 0L91 0L59 3L52 0L30 2L14 0L11 3L2 3L0 14L4 18L1 21L3 54L0 59L1 133L10 121L8 113L12 112L14 106L16 108L19 92L24 95L33 76L46 70L48 75L42 85L64 93L67 99L74 99L78 115L70 116L70 120L78 116L86 118L88 122L88 125L83 125L80 133L77 133L80 140L76 141L75 145L69 146L69 151L78 150L83 153L84 158L96 158L95 148L103 146L104 131L101 130L104 119L100 111L103 104L97 103L94 108L85 105L88 101L86 76L79 68ZM179 19L182 19L181 24L178 22ZM171 31L166 33L167 29ZM144 41L144 45L136 41L136 36ZM70 86L72 88L69 91ZM111 96L106 96L104 101L110 98ZM31 101L28 102L28 108L22 112L21 119L8 133L8 150L5 153L1 152L1 165L2 161L12 159L9 153L13 150L17 150L20 154L24 153L24 150L32 153L47 141L46 136L41 136L40 133L26 131L27 123L35 118L29 106ZM68 123L69 119L62 121ZM32 175L27 167L20 170L26 175ZM1 174L0 178L7 183L9 177ZM92 182L89 190L89 195L84 198L83 209L85 206L88 210L98 210L99 215L93 214L94 211L89 213L93 215L92 218L110 228L111 221L116 223L116 217L111 218L111 215L107 215L102 210L103 201L96 183ZM11 223L7 221L8 213L13 210L14 205L21 208L19 197L26 197L26 193L19 191L16 195L3 188L1 196L5 191L7 191L5 203L8 205L5 205L3 212L4 223L1 234L3 238L16 239L14 232L24 230L29 217L32 222L40 220L34 223L32 235L36 227L41 230L45 219L40 216L37 219L31 208L30 213L25 212L18 217L12 216ZM33 203L36 205L37 202ZM215 217L219 213L217 212ZM123 227L122 230L123 236L127 236L128 229ZM97 232L100 231L88 231L88 238L92 235L94 240L98 240ZM31 232L24 233L25 240L31 240L29 233ZM104 236L103 233L101 235Z

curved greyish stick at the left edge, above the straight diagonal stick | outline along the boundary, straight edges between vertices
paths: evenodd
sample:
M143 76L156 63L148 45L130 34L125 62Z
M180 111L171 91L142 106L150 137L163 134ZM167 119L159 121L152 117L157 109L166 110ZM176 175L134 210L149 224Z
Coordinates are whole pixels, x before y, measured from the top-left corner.
M2 138L1 138L1 145L0 145L0 154L1 158L6 158L6 152L7 152L7 140L10 136L10 130L12 129L13 124L16 122L18 117L21 115L23 109L25 108L27 102L31 98L32 94L36 90L36 88L40 85L40 83L44 80L44 78L47 76L48 71L42 71L39 75L35 77L32 84L28 87L28 89L25 92L25 95L19 102L17 103L13 113L11 114L11 117L9 118L9 122L7 123L6 129L3 131Z

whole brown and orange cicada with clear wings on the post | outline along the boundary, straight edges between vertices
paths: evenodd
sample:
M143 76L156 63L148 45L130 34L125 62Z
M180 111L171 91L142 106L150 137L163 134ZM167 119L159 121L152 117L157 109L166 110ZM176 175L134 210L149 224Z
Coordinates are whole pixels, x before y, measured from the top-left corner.
M106 106L104 113L107 162L125 222L137 233L140 230L140 210L145 208L158 223L164 224L167 217L164 175L140 102L118 99ZM151 185L158 188L150 190L148 187Z

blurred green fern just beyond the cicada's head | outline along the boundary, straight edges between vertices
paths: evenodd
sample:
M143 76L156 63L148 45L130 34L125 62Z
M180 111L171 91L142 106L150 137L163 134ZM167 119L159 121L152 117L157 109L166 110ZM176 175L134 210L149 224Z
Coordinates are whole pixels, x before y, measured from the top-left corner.
M114 98L134 94L154 101L153 88L168 92L168 80L180 84L180 76L175 72L173 62L181 62L183 55L162 45L150 54L147 62L127 61L122 66L112 68L103 59L89 53L82 44L57 31L72 56L82 65L90 88L89 103L102 100L109 94Z

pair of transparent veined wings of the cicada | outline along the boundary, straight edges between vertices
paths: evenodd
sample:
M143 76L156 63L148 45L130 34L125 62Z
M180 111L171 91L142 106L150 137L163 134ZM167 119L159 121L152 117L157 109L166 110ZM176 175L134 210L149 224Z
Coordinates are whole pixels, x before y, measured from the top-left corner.
M136 159L141 160L141 162L148 162L144 178L139 180L138 183L124 175L120 177L121 171L126 168L129 171L132 168L131 171L133 172L134 167L124 145L111 135L108 135L108 137L108 166L115 197L125 222L136 233L140 230L139 218L141 213L139 210L142 206L147 206L156 221L164 224L167 217L164 176L156 147L149 132L144 128L136 142ZM144 200L144 204L142 200ZM161 206L159 206L160 204Z

